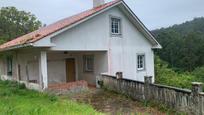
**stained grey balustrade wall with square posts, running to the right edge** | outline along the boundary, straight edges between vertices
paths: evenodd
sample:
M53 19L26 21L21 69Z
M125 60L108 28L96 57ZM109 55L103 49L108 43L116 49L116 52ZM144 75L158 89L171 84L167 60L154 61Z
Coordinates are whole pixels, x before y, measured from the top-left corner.
M140 101L162 103L177 111L191 115L204 115L204 93L202 84L193 83L192 91L159 84L152 84L152 77L145 77L145 83L115 76L102 75L102 86Z

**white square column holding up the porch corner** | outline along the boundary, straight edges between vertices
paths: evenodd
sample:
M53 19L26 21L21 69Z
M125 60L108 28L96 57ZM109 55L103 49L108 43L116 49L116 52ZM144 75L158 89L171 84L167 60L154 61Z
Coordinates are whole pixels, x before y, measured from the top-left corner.
M39 73L40 84L42 89L48 88L48 75L47 75L47 52L41 51L39 57Z

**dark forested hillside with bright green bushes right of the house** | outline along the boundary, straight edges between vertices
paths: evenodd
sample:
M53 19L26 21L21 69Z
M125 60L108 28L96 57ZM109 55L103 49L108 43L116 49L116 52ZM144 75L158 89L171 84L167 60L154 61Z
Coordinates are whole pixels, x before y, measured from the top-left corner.
M156 51L156 83L182 88L204 83L204 18L152 33L163 47Z

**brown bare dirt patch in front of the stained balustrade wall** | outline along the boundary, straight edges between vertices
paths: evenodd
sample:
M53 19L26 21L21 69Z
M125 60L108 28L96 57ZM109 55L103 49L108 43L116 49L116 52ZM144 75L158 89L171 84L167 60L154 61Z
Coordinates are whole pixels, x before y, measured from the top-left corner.
M67 98L65 96L64 98ZM145 107L141 102L133 101L123 95L102 89L90 89L83 93L68 95L68 98L92 105L97 111L107 114L165 115L152 107Z

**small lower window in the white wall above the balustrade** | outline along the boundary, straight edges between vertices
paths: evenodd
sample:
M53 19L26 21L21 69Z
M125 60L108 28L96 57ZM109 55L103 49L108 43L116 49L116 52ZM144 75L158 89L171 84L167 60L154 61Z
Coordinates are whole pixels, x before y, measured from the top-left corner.
M145 69L145 55L137 55L137 70Z

